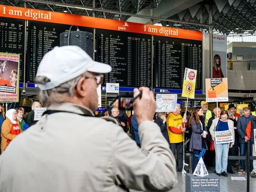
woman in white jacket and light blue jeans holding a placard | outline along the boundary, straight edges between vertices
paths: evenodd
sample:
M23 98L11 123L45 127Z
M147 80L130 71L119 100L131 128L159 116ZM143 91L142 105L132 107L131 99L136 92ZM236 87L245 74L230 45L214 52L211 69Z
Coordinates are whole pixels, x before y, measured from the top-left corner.
M228 138L224 136L221 138L221 134L227 135L229 133L223 131L230 131L232 133L233 142L229 142L230 139L225 140L224 138ZM234 144L234 122L229 119L227 111L221 111L220 118L216 118L212 121L212 125L209 129L210 134L212 136L212 140L214 140L214 148L215 148L215 160L216 160L216 174L218 176L227 177L227 158L228 151ZM218 141L215 140L215 135L218 135ZM231 139L232 139L231 137Z

